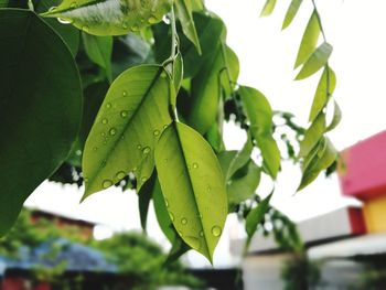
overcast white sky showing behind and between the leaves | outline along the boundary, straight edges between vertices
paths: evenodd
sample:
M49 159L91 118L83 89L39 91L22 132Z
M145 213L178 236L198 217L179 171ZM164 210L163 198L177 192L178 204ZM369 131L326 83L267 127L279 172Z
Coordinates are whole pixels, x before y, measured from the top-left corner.
M287 110L305 126L318 76L293 82L292 71L297 50L311 14L311 1L303 1L291 26L281 32L281 23L289 4L277 1L271 17L258 18L262 0L207 0L207 7L223 18L228 29L228 44L240 60L239 83L261 90L272 108ZM328 41L334 46L330 64L337 77L334 97L341 105L343 121L330 137L337 149L344 149L386 128L386 1L384 0L317 0ZM245 137L233 127L226 128L228 149L240 149ZM299 184L299 169L283 165L275 193L274 204L296 221L329 212L347 203L340 195L336 178L319 179L293 196ZM268 193L270 185L262 182L259 193ZM26 205L58 212L105 224L114 229L140 228L138 201L135 193L112 189L95 194L78 205L82 190L75 186L43 183L28 200ZM227 228L240 235L236 221L230 217ZM229 230L215 255L215 265L234 262L228 254ZM153 213L149 234L168 245L157 227ZM197 255L190 261L199 267L207 265Z

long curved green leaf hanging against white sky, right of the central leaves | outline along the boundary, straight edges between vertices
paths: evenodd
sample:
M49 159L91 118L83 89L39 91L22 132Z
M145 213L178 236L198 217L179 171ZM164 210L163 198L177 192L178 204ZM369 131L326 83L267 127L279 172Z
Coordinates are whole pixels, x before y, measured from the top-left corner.
M251 137L261 151L269 174L276 179L280 169L280 151L272 137L272 109L267 98L255 88L240 86L238 94L249 119Z

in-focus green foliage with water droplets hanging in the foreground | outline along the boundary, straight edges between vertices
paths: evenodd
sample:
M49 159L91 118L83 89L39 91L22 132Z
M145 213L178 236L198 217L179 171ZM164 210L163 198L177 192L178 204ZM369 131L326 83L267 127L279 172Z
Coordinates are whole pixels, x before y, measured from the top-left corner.
M261 174L275 181L281 163L274 111L262 93L237 84L223 21L201 0L3 0L0 24L0 234L50 176L84 182L83 200L120 184L137 190L143 226L153 200L171 258L193 248L212 261L228 212L254 198ZM296 64L297 79L324 67L312 123L304 132L280 115L296 140L303 136L296 154L281 135L289 158L302 162L299 189L336 158L324 137L339 121L336 106L325 126L332 49L315 49L320 32L315 9ZM240 151L225 149L227 119L248 136ZM247 216L249 236L268 204Z

